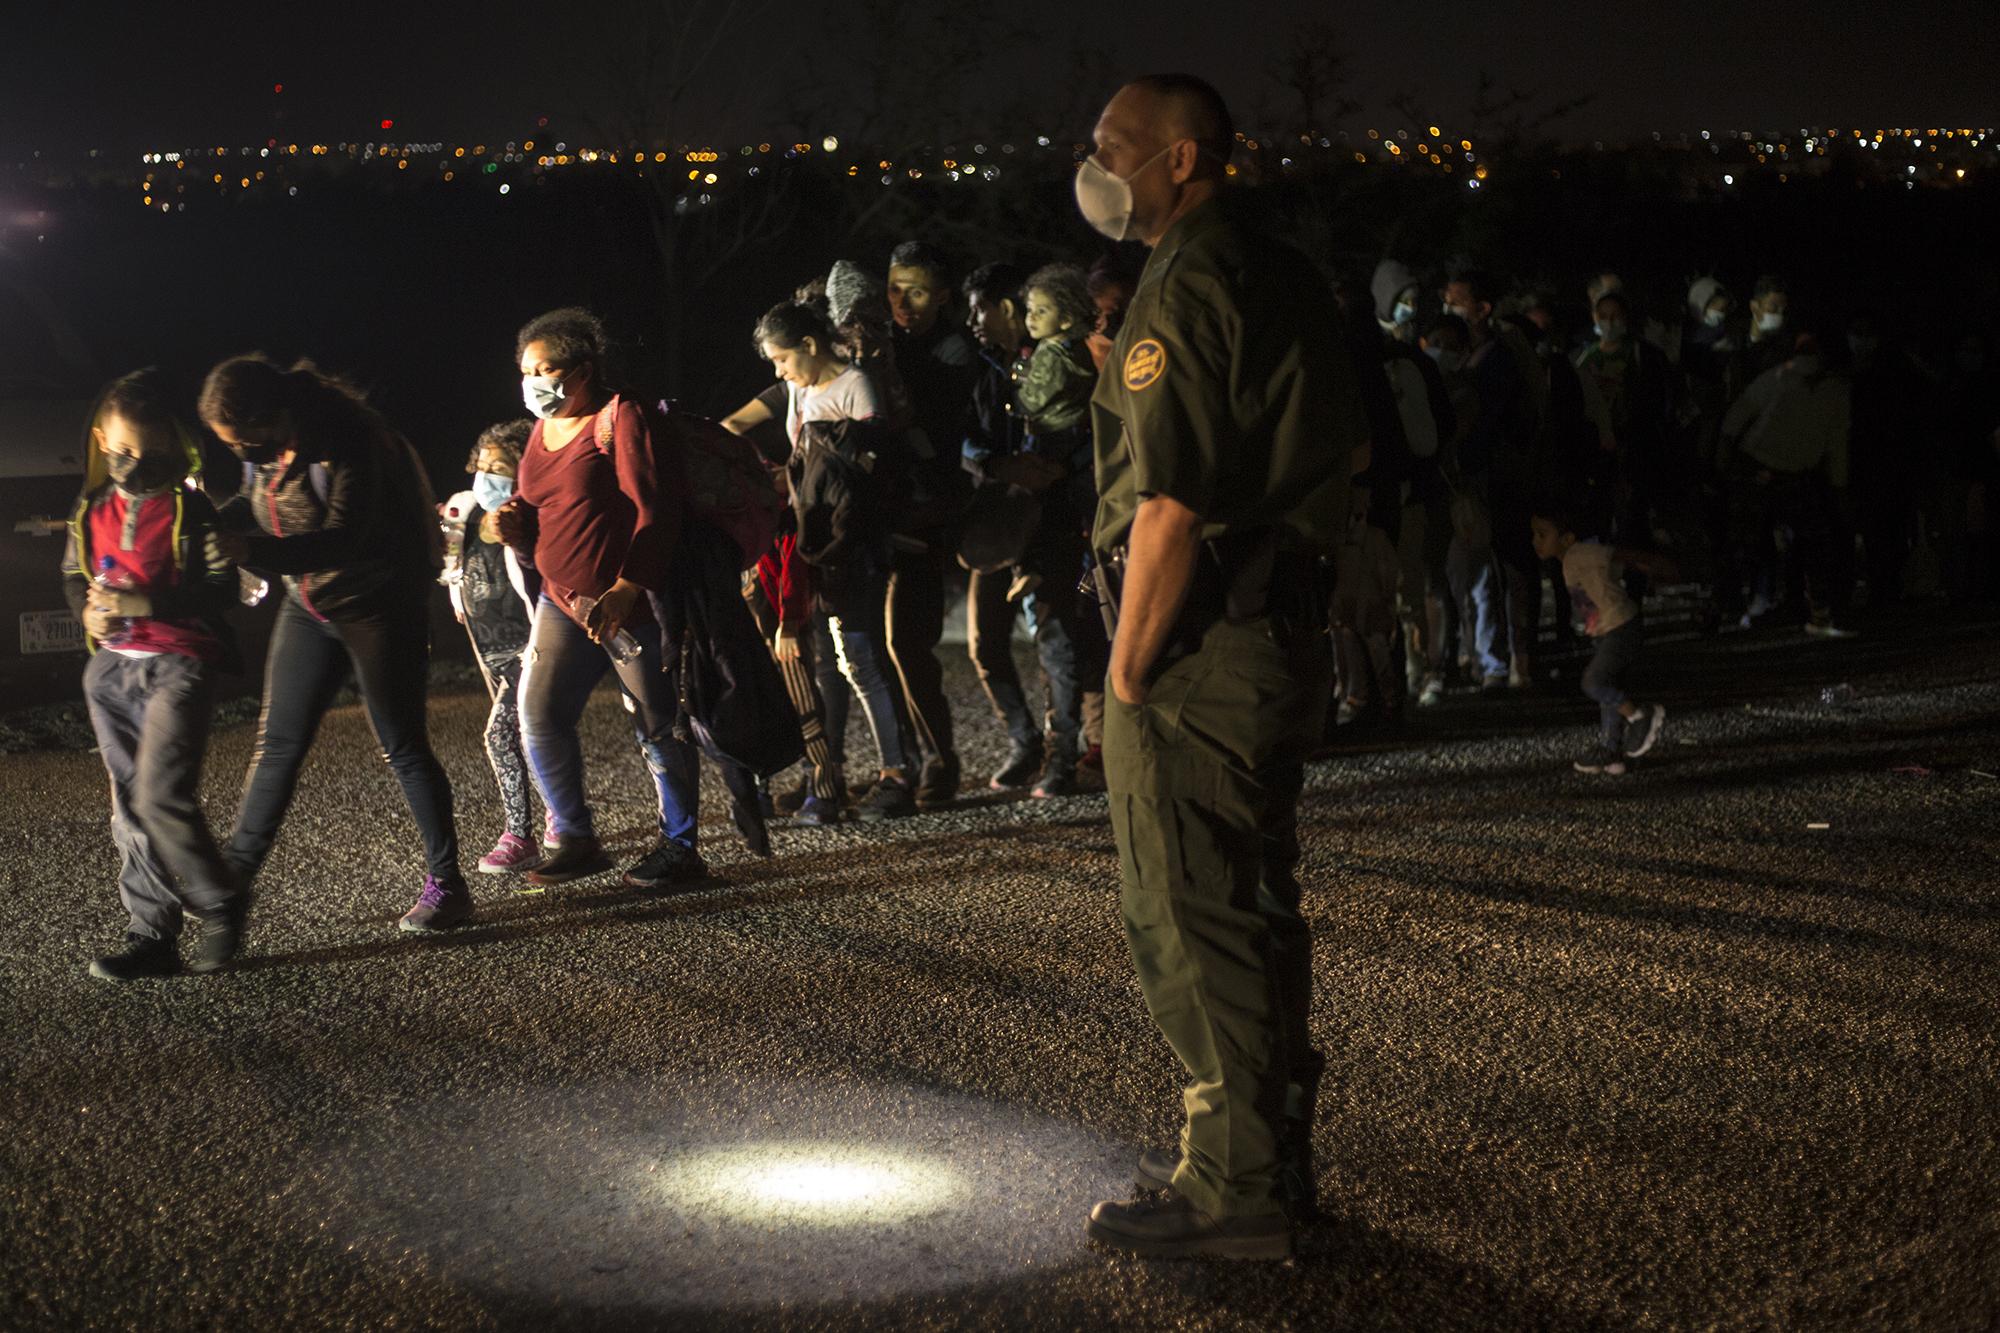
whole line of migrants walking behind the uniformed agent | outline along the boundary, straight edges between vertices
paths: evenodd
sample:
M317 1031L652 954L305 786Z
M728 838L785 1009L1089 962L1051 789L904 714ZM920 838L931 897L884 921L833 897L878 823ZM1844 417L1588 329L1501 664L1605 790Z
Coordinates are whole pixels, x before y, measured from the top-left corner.
M706 875L704 751L760 853L772 819L892 821L960 799L954 713L970 701L948 697L938 658L960 584L984 705L1008 737L998 769L970 781L1034 799L1102 787L1112 620L1088 540L1092 394L1148 280L1118 254L1028 272L912 240L880 266L800 274L742 330L774 384L722 422L636 392L596 316L552 310L514 348L532 418L486 430L470 490L444 506L394 426L308 362L214 368L196 416L242 476L200 484L198 428L158 378L114 384L66 554L72 604L106 648L86 695L132 913L128 951L100 967L178 967L184 911L210 921L196 965L234 953L242 887L350 673L424 833L428 877L404 925L470 917L428 743L428 652L412 646L440 564L492 693L504 829L478 869L524 887L610 867L578 743L606 673L660 799L658 845L624 871L636 889ZM1530 689L1546 679L1538 646L1582 630L1604 731L1578 769L1622 773L1664 717L1620 685L1662 586L1696 588L1718 632L1816 636L2000 592L2000 374L1984 334L1918 348L1878 314L1800 320L1794 300L1826 294L1780 274L1644 302L1608 270L1550 292L1384 260L1330 290L1370 434L1332 560L1330 743L1454 693ZM218 843L190 773L250 570L286 590L242 809ZM1022 624L1040 681L1016 666ZM774 735L736 725L746 701ZM794 763L796 781L774 785Z

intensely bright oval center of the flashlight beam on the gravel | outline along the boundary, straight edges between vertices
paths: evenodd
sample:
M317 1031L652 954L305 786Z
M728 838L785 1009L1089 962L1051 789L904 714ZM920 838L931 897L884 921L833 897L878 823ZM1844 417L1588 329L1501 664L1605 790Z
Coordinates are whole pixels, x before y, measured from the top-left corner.
M664 1161L660 1177L676 1203L766 1225L904 1221L964 1193L948 1167L924 1157L788 1143Z

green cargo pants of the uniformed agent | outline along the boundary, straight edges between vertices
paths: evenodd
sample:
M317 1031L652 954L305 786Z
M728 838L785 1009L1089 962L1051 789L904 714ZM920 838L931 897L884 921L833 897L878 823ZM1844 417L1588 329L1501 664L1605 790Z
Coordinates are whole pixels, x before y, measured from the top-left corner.
M1126 941L1188 1071L1174 1189L1214 1217L1282 1211L1286 1133L1310 1131L1312 939L1292 871L1330 693L1326 634L1252 620L1210 628L1142 707L1106 695Z

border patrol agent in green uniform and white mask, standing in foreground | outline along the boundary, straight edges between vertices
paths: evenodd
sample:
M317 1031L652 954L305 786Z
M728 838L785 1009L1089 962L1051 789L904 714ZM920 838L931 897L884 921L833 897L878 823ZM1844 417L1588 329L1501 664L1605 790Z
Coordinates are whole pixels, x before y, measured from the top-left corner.
M1166 1193L1100 1203L1088 1235L1282 1259L1310 1215L1324 1067L1296 811L1332 695L1322 556L1366 424L1326 284L1218 198L1232 144L1214 88L1148 76L1104 108L1076 180L1092 226L1152 246L1092 408L1092 544L1126 939L1188 1075L1180 1151L1138 1167Z

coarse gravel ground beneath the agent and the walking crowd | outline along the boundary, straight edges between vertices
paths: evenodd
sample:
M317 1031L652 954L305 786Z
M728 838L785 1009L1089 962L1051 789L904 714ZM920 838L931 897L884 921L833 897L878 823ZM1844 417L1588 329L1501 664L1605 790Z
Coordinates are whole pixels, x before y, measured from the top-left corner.
M0 1325L1996 1327L1994 630L1658 644L1624 781L1568 771L1568 681L1314 765L1328 1221L1268 1267L1082 1239L1178 1113L1102 799L760 863L710 787L712 885L482 877L476 927L410 941L416 833L342 707L254 957L112 987L96 757L4 755ZM468 857L482 721L434 703ZM636 857L616 697L586 729Z

